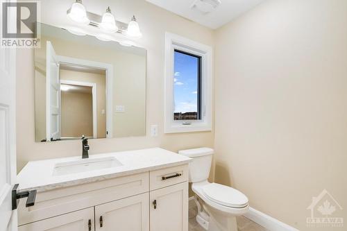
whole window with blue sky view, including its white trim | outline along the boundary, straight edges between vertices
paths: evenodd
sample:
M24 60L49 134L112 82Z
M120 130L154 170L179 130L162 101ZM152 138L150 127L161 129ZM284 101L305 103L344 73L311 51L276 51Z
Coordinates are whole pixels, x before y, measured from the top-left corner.
M211 130L212 48L166 33L165 132Z

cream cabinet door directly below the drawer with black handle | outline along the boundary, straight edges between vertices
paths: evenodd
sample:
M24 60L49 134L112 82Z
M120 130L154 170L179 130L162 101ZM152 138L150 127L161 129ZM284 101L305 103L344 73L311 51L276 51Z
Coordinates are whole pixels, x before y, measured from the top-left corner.
M188 182L151 191L151 231L188 231Z

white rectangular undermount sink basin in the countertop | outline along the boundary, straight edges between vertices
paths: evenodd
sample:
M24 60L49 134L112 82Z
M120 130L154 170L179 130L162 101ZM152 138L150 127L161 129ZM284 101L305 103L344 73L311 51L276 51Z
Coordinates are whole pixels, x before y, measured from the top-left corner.
M61 162L54 166L53 176L63 176L73 173L82 173L101 169L110 169L123 166L115 157L83 159L71 162Z

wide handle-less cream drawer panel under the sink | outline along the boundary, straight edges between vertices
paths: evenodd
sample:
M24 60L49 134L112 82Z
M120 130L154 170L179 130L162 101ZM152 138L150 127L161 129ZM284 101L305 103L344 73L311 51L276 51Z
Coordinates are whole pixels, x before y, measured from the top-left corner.
M18 207L18 225L48 219L149 191L149 172L38 192L35 205Z

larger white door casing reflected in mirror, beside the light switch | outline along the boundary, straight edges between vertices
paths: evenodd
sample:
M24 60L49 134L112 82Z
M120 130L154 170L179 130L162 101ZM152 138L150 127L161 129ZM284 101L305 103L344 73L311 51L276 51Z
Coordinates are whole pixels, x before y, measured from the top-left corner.
M112 119L113 119L113 65L105 62L94 62L90 60L82 60L79 58L71 58L67 56L58 55L58 60L67 65L76 65L80 67L94 67L98 69L105 69L106 73L106 130L107 138L112 138Z

